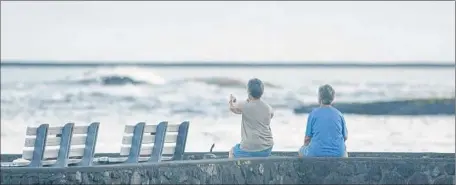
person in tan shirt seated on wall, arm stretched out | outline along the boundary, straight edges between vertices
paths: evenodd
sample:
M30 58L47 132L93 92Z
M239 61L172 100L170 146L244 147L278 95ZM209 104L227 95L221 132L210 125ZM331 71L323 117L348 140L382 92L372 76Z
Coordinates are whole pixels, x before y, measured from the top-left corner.
M247 84L248 99L236 103L230 96L230 110L242 115L241 143L236 144L229 157L267 157L274 145L271 132L271 119L274 116L271 106L261 99L264 85L259 79L251 79Z

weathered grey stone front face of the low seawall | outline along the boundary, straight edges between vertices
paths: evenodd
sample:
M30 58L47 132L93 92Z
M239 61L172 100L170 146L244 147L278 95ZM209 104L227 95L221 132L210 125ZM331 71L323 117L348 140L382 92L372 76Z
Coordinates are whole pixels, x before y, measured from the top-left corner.
M2 168L1 184L452 184L455 160L269 157Z

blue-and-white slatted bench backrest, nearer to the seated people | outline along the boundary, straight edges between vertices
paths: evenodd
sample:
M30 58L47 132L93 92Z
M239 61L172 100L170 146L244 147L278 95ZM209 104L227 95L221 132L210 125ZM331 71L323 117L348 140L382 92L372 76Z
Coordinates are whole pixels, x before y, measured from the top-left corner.
M187 142L189 122L181 124L145 124L125 126L121 156L128 156L128 163L138 162L139 157L149 157L149 162L162 159L181 160Z

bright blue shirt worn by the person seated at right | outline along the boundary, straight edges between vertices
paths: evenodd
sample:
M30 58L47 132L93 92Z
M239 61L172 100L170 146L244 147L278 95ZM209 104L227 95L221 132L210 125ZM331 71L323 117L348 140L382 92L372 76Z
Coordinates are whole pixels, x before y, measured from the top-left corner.
M307 118L306 136L311 137L307 156L342 157L347 136L344 116L334 107L314 109Z

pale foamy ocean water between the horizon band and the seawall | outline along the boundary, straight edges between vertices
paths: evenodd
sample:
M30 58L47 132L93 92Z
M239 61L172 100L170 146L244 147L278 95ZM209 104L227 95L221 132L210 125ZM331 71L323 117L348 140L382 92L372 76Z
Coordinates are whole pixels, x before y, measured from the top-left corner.
M1 151L21 153L27 125L100 122L96 152L119 152L126 124L190 121L188 152L228 151L240 141L229 95L246 95L253 77L266 83L275 110L274 151L296 151L317 88L331 84L336 102L454 97L454 68L2 67ZM346 114L348 151L454 152L454 116Z

